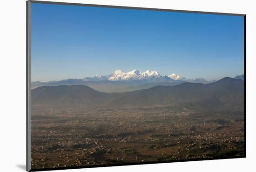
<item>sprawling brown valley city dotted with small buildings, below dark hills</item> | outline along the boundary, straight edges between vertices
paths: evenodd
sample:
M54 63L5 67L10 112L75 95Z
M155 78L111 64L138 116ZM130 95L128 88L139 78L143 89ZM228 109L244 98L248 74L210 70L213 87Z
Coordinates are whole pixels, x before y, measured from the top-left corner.
M244 155L244 112L176 106L32 111L32 169Z

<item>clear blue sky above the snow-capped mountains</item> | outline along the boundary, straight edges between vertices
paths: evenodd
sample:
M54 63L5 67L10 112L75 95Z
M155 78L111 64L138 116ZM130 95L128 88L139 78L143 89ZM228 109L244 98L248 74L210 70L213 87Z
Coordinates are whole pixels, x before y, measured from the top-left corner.
M243 74L243 17L32 3L32 80Z

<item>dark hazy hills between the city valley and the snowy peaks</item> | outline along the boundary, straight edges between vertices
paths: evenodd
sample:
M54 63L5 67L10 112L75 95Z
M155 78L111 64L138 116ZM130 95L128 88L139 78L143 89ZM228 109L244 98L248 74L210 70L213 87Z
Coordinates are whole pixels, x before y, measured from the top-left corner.
M33 107L121 107L186 104L202 108L243 109L244 81L229 77L214 83L185 82L124 93L102 93L89 86L41 86L32 90Z

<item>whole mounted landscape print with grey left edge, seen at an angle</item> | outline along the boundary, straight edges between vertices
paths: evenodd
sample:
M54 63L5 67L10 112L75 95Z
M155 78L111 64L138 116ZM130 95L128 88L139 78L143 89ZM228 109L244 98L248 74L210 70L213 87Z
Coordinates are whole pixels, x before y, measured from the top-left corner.
M244 157L244 14L27 1L27 171Z

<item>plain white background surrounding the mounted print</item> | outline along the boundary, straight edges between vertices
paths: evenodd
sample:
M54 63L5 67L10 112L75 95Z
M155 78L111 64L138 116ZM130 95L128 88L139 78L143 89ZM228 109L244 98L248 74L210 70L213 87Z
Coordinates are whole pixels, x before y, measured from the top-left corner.
M255 171L256 6L254 0L59 1L247 14L247 158L74 169L63 172ZM18 172L25 171L26 166L26 0L2 0L0 8L0 171Z

